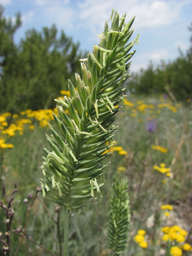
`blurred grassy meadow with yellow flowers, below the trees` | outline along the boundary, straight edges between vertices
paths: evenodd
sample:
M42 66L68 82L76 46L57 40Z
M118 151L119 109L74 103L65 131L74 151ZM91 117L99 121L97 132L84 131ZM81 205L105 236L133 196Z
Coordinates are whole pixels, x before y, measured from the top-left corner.
M165 255L170 246L165 236L168 233L163 232L165 227L179 226L186 231L182 231L184 239L172 240L172 245L192 244L192 110L189 100L186 104L174 104L165 95L156 98L130 96L125 100L115 123L119 128L115 134L116 144L110 149L111 164L106 173L107 183L101 190L103 198L73 212L69 255L107 255L108 203L116 175L127 178L129 184L131 221L125 255ZM11 250L15 252L23 238L18 255L26 251L31 255L45 255L40 245L52 255L58 255L59 239L63 240L63 214L60 214L63 210L42 200L39 189L43 148L48 146L45 133L50 133L48 123L52 123L52 112L21 112L9 127L5 126L5 122L10 122L9 114L0 116L1 127L4 125L1 133L4 138L8 136L1 142L4 188L1 195L9 201L15 187L17 189L13 200ZM15 128L11 130L10 127ZM7 229L6 218L1 210L3 234ZM143 238L137 236L138 230L145 230L147 244L139 246L138 239ZM190 253L183 251L183 255Z

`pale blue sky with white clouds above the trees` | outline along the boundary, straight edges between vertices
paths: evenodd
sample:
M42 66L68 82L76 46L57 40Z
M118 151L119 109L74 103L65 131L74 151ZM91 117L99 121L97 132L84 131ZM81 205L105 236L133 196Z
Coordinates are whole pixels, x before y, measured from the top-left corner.
M173 60L179 56L178 48L185 52L190 45L192 0L0 0L4 15L15 19L20 11L22 26L15 35L15 42L24 38L28 29L40 31L53 23L58 31L64 30L73 41L80 42L80 49L92 52L99 43L105 21L112 9L120 15L127 14L125 22L136 15L132 40L140 34L137 52L132 58L131 71L146 68L149 61ZM85 56L86 57L86 56Z

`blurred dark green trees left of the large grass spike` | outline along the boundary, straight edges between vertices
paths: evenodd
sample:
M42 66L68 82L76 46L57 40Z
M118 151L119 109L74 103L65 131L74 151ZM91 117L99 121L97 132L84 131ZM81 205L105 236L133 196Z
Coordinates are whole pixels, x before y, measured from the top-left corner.
M54 107L53 99L59 96L61 89L68 88L68 79L75 82L73 71L80 71L77 65L81 56L79 43L73 43L63 31L58 36L57 28L52 25L41 32L28 30L16 46L13 34L21 24L20 15L12 25L2 14L3 10L0 22L4 21L5 25L1 26L1 33L7 35L7 24L10 27L4 48L9 41L11 46L7 46L1 66L0 111L18 113Z

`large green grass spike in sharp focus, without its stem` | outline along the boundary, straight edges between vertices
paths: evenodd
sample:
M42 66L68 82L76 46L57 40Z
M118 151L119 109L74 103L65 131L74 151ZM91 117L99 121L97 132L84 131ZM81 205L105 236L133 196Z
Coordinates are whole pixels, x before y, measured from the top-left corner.
M111 28L106 22L100 44L81 59L82 80L75 74L77 90L69 80L71 97L56 100L57 131L50 126L53 135L47 139L53 151L45 149L41 185L44 197L65 205L67 210L88 204L97 193L102 196L100 187L108 163L101 161L114 144L117 127L112 123L119 104L123 104L123 82L129 77L126 70L135 53L130 50L137 43L137 39L129 42L134 18L125 24L125 15L119 18L117 12L112 13Z

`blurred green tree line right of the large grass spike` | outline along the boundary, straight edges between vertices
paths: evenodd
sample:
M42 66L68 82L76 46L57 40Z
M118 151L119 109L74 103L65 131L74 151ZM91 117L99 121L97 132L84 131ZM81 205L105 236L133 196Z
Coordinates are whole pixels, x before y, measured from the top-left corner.
M192 31L192 23L189 27ZM192 36L186 53L179 50L174 61L161 61L155 66L151 61L146 69L131 74L127 88L135 94L167 93L175 100L192 99Z

